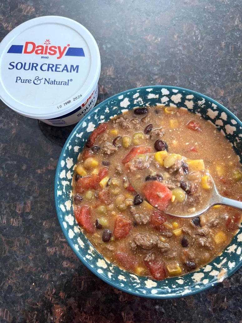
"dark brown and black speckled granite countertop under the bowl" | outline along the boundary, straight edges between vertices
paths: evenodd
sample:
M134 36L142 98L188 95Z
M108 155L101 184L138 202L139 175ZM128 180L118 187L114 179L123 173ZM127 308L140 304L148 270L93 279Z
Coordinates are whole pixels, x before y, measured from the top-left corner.
M196 90L242 119L241 0L1 0L0 40L31 18L72 18L101 54L98 102L145 85ZM200 294L151 300L93 275L66 243L55 168L74 126L0 102L0 322L242 322L242 269Z

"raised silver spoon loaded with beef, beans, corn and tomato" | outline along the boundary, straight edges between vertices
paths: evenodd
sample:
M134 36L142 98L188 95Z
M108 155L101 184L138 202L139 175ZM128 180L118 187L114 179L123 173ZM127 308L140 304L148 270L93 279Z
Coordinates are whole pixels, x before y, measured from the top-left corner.
M159 153L159 152L158 152ZM194 218L197 217L200 214L203 214L206 212L210 207L214 205L227 205L227 206L232 206L238 209L242 210L242 202L229 199L227 197L224 197L218 193L217 187L215 185L215 182L211 176L211 174L205 169L204 167L204 162L203 160L193 160L191 163L191 160L188 160L186 157L178 155L178 154L169 154L166 151L163 152L164 155L169 157L169 160L171 160L171 157L174 156L175 158L178 158L177 160L177 170L176 170L176 162L172 164L172 166L175 166L175 174L176 172L180 172L181 178L183 182L183 179L187 180L187 177L189 179L189 173L188 169L193 165L194 162L199 164L200 166L200 179L199 181L196 181L197 188L199 187L199 192L202 193L202 198L197 199L196 203L196 198L193 198L192 192L190 192L189 188L187 188L187 191L184 188L182 189L182 185L178 183L179 188L176 188L177 182L174 182L174 190L170 191L169 188L172 187L172 183L170 182L170 178L175 180L175 175L172 177L170 173L168 172L171 166L166 166L166 161L164 160L161 165L161 163L158 163L158 158L156 158L156 153L146 153L143 155L138 155L131 159L127 164L126 164L126 173L127 177L131 183L131 185L134 187L136 192L144 199L146 202L151 204L153 207L157 208L160 211L163 211L166 214L176 216L176 217L186 217L186 218ZM179 157L177 157L179 156ZM166 157L165 157L166 158ZM195 164L196 164L195 163ZM180 166L179 166L180 165ZM189 166L188 166L189 165ZM172 170L171 170L172 171ZM196 172L196 171L195 171ZM198 171L197 171L198 173ZM150 175L152 174L152 175ZM192 174L192 172L191 172ZM186 177L187 176L187 177ZM201 185L201 179L202 177L206 177L208 179L207 182L207 189L203 189ZM167 180L168 178L168 180ZM164 194L170 194L170 200L167 200L166 207L164 207L164 204L159 204L158 202L154 202L157 200L156 198L149 198L150 193L146 193L146 183L147 181L152 181L154 183L149 185L149 187L152 188L151 195L153 196L160 196L161 199L164 198ZM157 182L157 183L155 183ZM185 182L184 182L185 183ZM190 185L190 183L189 183ZM193 184L194 185L194 184ZM164 190L163 190L164 189ZM166 189L166 190L165 190ZM179 203L176 200L175 197L175 192L176 190L179 190L179 192L183 193L184 201L183 203ZM165 192L165 193L163 193ZM176 191L177 192L177 191ZM173 195L174 194L174 195ZM173 198L173 201L172 201ZM194 203L192 207L187 207L187 205L191 204L189 199L192 201L194 199ZM170 203L174 202L175 203ZM185 204L187 203L187 205ZM185 207L184 207L185 205ZM187 212L186 212L187 210Z

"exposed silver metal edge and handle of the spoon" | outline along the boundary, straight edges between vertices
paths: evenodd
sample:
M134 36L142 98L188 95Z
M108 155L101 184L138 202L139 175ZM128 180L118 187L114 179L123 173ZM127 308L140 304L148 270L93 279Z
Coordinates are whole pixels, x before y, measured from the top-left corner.
M147 155L152 155L152 154L147 154ZM207 172L208 173L208 172ZM210 174L209 174L210 175ZM129 181L131 182L131 185L134 187L134 189L136 190L136 192L142 196L143 199L146 200L145 196L144 196L144 193L143 192L139 192L139 189L137 188L137 186L135 185L135 183L133 182L132 180L132 176L130 176L129 172L127 172L127 176L128 176L128 179ZM215 185L215 182L214 182L214 179L212 178L212 176L210 175L210 178L211 178L211 182L212 182L212 185L213 187L211 188L213 191L211 192L210 191L210 194L211 194L211 197L210 199L208 200L208 203L204 206L204 208L200 208L197 212L194 212L194 213L191 213L191 214L186 214L186 215L180 215L178 212L176 214L174 213L170 213L168 210L166 211L163 211L165 212L166 214L169 214L169 215L173 215L173 216L177 216L177 217L185 217L185 218L194 218L194 217L197 217L198 215L206 212L210 207L214 206L214 205L227 205L227 206L232 206L232 207L235 207L237 209L240 209L242 210L242 202L240 201L237 201L237 200L233 200L233 199L229 199L227 197L224 197L222 195L220 195L218 193L218 190L217 190L217 187ZM146 202L149 203L149 201L146 200ZM154 205L152 205L153 207L155 207ZM157 208L157 207L156 207ZM157 208L158 209L158 208Z

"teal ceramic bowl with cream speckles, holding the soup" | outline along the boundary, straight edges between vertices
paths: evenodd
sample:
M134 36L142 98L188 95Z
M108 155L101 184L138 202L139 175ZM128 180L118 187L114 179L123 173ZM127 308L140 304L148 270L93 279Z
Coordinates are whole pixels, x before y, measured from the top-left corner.
M236 153L242 153L242 123L216 101L187 89L153 86L131 89L106 99L75 127L63 147L55 177L55 205L62 231L77 257L106 283L133 295L149 298L176 298L196 294L232 275L242 264L242 228L224 252L210 264L190 274L155 281L136 276L107 261L86 239L76 223L72 208L73 167L86 140L100 122L126 109L159 104L187 108L199 113L221 131Z

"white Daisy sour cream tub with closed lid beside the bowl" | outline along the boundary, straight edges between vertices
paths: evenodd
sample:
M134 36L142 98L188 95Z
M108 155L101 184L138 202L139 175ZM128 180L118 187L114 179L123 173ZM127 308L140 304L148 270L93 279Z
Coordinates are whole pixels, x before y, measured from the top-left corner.
M100 69L98 46L84 26L35 18L0 44L0 99L26 117L68 126L95 106Z

